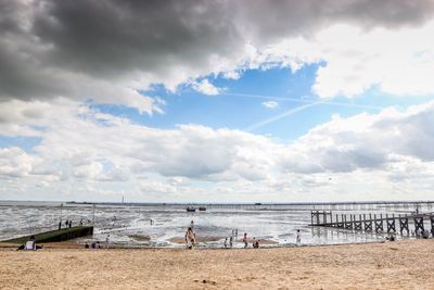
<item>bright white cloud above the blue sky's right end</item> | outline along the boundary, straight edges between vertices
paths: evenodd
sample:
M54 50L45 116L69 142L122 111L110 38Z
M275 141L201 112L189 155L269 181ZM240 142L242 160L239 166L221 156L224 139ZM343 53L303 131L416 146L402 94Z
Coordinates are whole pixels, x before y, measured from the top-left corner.
M434 93L434 22L398 31L332 27L318 36L321 59L314 91L356 96L378 86L398 96ZM343 39L344 36L344 39Z

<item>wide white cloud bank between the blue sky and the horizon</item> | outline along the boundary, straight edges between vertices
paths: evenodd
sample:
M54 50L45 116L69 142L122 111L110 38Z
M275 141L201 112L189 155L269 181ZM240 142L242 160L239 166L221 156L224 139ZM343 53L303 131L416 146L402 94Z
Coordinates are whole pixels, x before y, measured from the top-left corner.
M16 193L13 185L31 191L42 181L49 192L61 185L77 191L93 185L81 190L94 190L100 199L108 182L107 191L119 188L138 199L220 201L331 199L340 190L369 198L379 189L382 197L395 198L416 188L423 197L434 186L434 102L404 112L335 116L290 144L199 125L154 129L77 103L38 104L31 114L9 116L20 124L13 135L8 122L0 127L2 135L41 138L31 152L1 149L4 194Z

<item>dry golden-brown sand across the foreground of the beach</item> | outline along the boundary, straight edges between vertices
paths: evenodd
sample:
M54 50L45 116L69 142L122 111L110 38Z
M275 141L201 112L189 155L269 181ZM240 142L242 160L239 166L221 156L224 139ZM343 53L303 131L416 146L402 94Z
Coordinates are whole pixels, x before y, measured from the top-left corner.
M0 249L0 289L434 289L433 273L434 240L247 250Z

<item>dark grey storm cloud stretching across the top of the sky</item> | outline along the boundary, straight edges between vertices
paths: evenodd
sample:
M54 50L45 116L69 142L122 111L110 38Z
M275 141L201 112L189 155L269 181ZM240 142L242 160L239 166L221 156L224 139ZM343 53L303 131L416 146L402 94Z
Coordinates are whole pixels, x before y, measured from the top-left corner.
M92 97L133 106L136 97L122 91L128 81L177 85L216 73L213 60L237 62L250 42L340 22L416 26L432 14L429 0L1 0L0 100Z

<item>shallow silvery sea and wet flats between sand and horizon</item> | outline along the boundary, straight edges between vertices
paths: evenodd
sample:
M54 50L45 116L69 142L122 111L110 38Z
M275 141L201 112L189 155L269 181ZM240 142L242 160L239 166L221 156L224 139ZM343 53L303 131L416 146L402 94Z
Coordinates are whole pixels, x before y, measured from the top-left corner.
M244 232L263 240L261 247L296 245L301 231L303 245L360 243L384 240L386 234L312 227L311 206L256 205L213 206L187 212L187 204L78 204L65 202L0 201L0 241L58 229L66 220L93 225L94 234L77 243L104 242L131 248L179 248L193 222L200 248L222 248L225 238L238 232L233 247L242 248ZM393 213L387 209L339 210L334 214ZM153 220L153 222L151 222ZM398 237L408 238L408 237Z

